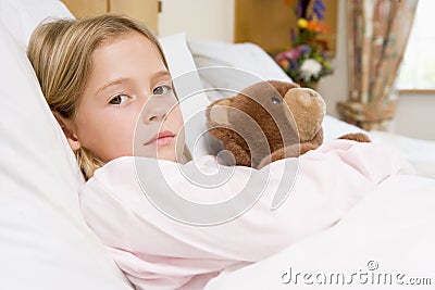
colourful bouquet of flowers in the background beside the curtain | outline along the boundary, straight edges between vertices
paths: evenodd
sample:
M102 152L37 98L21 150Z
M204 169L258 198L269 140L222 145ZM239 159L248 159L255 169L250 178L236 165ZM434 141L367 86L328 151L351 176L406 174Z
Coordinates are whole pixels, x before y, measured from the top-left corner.
M286 2L290 2L286 0ZM302 87L315 88L319 79L333 73L325 59L327 42L319 39L325 33L325 5L322 0L298 0L296 7L297 33L290 29L291 48L275 56L275 61Z

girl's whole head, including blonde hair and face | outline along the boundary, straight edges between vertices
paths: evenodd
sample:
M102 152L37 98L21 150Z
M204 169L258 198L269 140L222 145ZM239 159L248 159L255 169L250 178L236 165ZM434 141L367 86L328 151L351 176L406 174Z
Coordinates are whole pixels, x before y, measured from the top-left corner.
M28 56L86 178L110 160L133 155L136 121L152 98L159 101L148 102L137 128L147 146L137 150L179 157L182 115L163 52L146 27L109 15L48 23L34 33Z

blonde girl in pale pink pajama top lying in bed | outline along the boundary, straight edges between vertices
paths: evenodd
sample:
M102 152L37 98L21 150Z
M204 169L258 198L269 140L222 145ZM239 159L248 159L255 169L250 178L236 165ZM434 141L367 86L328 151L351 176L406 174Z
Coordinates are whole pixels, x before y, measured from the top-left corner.
M233 168L229 180L214 188L181 173L192 162L174 162L184 138L171 76L156 37L136 21L103 15L42 24L32 36L28 58L89 178L79 193L86 222L136 289L202 289L223 269L260 261L331 227L384 178L407 171L374 144L337 140L300 157L291 194L271 211L288 178L286 161L266 166L264 185L248 167ZM153 159L163 160L159 167ZM195 226L162 213L144 180L167 198L174 215L188 216L200 206L172 203L171 190L210 204L229 200L253 180L262 197L232 219Z

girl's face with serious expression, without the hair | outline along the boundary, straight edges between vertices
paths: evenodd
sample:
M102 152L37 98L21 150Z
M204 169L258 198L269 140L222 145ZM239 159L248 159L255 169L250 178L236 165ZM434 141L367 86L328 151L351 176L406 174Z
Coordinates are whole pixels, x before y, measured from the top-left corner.
M176 161L183 117L156 45L132 33L95 50L73 127L77 143L104 162L130 155Z

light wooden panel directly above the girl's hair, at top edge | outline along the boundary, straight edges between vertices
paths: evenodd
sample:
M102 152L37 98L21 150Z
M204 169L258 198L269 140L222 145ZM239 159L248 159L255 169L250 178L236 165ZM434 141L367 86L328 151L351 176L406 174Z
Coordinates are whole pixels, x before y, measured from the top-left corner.
M62 0L76 17L95 16L107 12L121 12L144 22L158 33L158 0Z

